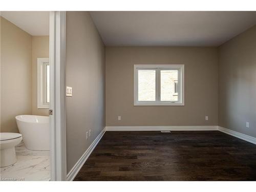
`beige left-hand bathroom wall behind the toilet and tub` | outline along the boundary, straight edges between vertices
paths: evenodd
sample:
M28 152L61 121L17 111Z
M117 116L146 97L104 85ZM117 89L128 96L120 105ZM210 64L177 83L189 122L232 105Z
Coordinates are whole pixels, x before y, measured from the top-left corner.
M1 132L18 132L15 116L32 111L31 39L1 18Z

